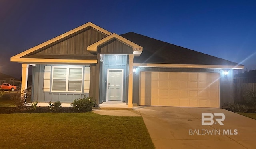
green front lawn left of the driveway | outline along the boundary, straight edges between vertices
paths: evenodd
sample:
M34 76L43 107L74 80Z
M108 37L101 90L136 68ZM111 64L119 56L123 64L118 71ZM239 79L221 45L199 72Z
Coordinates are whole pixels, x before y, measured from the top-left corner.
M154 149L142 117L0 114L1 149Z

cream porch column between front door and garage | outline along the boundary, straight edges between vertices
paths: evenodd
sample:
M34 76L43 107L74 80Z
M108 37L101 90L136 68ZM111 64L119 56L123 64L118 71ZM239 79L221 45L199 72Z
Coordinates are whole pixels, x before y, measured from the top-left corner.
M129 54L129 87L128 87L128 108L132 108L133 88L133 54Z

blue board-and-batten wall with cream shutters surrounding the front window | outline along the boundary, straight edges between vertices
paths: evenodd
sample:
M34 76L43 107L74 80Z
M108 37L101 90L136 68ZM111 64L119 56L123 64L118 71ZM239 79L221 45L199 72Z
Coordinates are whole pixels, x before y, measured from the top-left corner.
M84 96L88 97L89 93L89 85L90 83L90 67L84 67L84 72L86 73L84 76L84 91L83 93L58 93L51 92L50 85L51 83L51 70L52 65L44 65L44 64L36 64L33 67L32 75L32 101L38 102L46 102L49 101L56 102L60 101L61 103L71 103L74 99L83 98ZM49 78L50 74L50 78ZM87 82L87 83L86 83Z

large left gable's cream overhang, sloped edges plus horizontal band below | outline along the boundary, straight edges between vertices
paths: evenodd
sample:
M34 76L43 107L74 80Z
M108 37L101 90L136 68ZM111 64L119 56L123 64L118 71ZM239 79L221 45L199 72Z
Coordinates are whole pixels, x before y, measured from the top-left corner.
M67 36L69 36L71 34L79 32L80 30L83 30L84 28L87 28L89 26L92 27L92 28L95 28L96 30L98 30L98 31L100 31L100 32L102 32L102 33L104 33L106 35L110 35L111 34L111 32L108 32L107 30L105 30L105 29L103 29L103 28L101 28L99 26L96 26L95 24L93 24L91 22L88 22L88 23L86 23L84 25L81 25L81 26L79 26L77 28L74 28L73 30L70 30L70 31L68 31L68 32L66 32L64 34L61 34L60 36L52 38L52 39L50 39L50 40L48 40L46 42L43 42L42 44L39 44L37 46L34 46L33 48L30 48L30 49L28 49L28 50L26 50L24 52L21 52L21 53L15 55L15 56L12 56L11 57L11 62L21 62L21 63L28 62L29 63L29 62L32 61L33 63L34 62L36 62L36 63L39 62L40 63L42 60L44 60L44 62L51 62L52 60L56 60L58 62L61 62L61 61L65 62L65 60L60 60L60 59L36 59L36 58L34 58L33 60L31 60L31 58L21 58L21 57L25 56L27 54L30 54L31 52L34 52L34 51L36 51L36 50L38 50L40 48L43 48L44 46L52 44L52 43L54 43L54 42L56 42L58 40L61 40L61 39L65 38L65 37L67 37ZM26 61L26 60L28 60L28 61ZM66 62L68 62L68 61L73 62L73 61L84 61L84 60L66 60Z

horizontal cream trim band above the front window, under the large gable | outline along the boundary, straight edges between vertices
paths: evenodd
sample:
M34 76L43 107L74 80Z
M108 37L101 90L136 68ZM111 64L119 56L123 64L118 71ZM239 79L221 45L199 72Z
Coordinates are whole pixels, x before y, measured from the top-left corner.
M96 64L97 60L11 58L11 62L33 64Z

